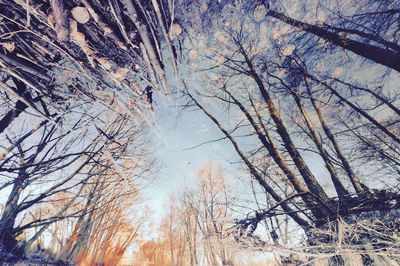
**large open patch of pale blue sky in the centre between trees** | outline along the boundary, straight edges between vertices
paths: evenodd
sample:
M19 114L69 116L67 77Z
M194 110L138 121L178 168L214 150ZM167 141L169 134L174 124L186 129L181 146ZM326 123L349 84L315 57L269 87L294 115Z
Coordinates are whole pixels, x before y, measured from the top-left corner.
M156 96L152 120L151 134L161 169L142 197L157 222L164 214L169 196L190 185L204 163L212 160L229 167L235 154L226 141L205 143L221 138L214 124L198 111L180 113L180 107L171 97Z

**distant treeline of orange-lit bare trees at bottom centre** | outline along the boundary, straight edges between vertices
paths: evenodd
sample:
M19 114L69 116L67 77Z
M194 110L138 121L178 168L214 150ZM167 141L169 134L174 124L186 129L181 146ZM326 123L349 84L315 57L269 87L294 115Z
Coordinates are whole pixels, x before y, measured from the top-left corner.
M240 203L239 203L240 202ZM203 164L190 185L171 196L157 229L157 238L145 241L132 263L155 265L265 265L271 256L248 249L250 239L238 241L235 219L238 195L221 165ZM253 204L251 204L253 205ZM253 257L255 256L255 257ZM138 264L139 265L139 264Z

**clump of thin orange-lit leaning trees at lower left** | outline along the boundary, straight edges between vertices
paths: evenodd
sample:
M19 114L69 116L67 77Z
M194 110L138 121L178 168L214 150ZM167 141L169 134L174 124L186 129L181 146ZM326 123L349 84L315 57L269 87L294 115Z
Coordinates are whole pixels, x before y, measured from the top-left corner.
M115 264L138 237L147 217L145 211L135 219L129 217L128 210L135 210L138 204L138 188L133 177L139 169L133 169L132 175L127 175L129 180L107 174L93 180L86 202L82 202L84 212L71 221L73 230L67 245L61 248L60 253L68 261L85 257L91 263Z

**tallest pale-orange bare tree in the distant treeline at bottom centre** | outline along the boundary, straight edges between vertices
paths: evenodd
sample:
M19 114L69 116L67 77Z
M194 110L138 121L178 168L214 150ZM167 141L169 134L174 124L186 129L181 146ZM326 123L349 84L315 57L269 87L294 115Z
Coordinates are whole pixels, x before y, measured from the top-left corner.
M233 261L233 250L228 228L232 219L229 206L232 204L224 169L215 167L210 161L197 173L195 187L184 198L191 212L197 214L199 241L203 243L205 257L209 264L228 265Z

